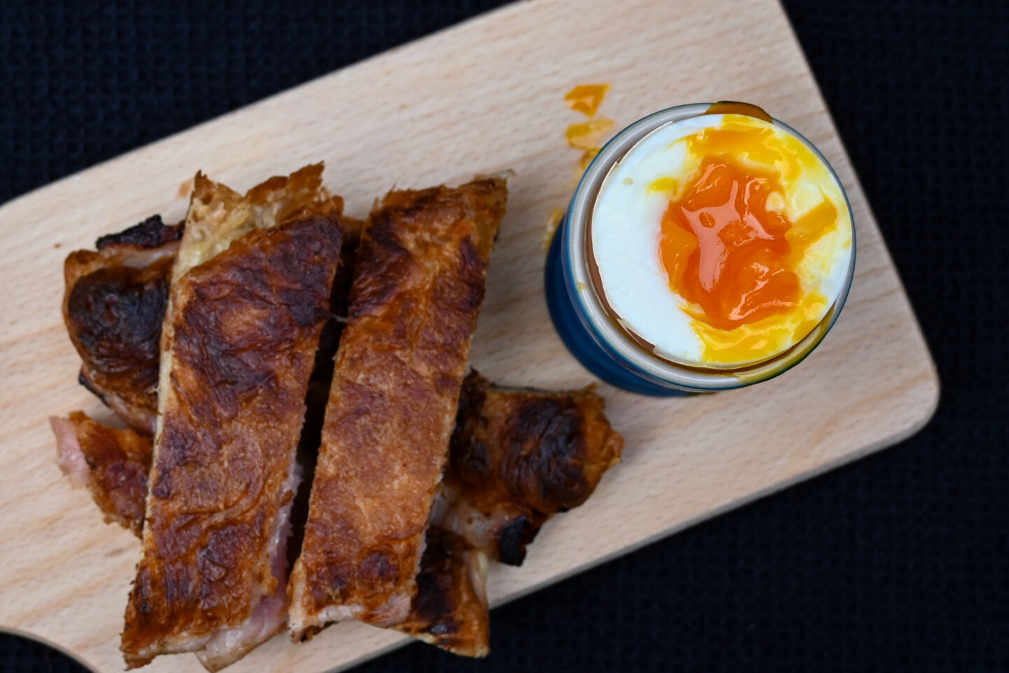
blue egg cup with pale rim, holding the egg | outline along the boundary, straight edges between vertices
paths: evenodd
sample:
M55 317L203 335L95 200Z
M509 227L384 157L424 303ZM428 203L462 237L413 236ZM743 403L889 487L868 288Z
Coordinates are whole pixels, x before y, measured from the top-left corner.
M840 188L852 221L852 254L844 286L826 315L802 340L767 360L735 369L677 364L646 350L605 312L588 268L588 225L602 181L639 140L671 122L704 114L710 103L679 105L639 119L599 150L575 189L567 213L547 255L547 306L554 327L568 350L593 374L618 387L660 397L713 392L773 378L801 362L823 340L845 306L855 273L855 218L844 186L823 154L801 133L772 123L805 143L827 167Z

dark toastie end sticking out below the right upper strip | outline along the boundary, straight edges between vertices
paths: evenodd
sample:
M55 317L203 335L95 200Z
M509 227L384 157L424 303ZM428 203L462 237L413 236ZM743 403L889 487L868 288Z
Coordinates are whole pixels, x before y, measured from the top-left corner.
M397 631L464 657L490 652L486 556L463 538L428 529L417 595Z

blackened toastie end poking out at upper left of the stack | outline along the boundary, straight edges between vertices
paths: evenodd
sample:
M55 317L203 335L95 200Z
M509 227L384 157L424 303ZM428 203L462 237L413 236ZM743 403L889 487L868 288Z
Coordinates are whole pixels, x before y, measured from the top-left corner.
M131 427L153 434L161 320L182 225L156 215L77 250L64 264L64 320L80 381Z

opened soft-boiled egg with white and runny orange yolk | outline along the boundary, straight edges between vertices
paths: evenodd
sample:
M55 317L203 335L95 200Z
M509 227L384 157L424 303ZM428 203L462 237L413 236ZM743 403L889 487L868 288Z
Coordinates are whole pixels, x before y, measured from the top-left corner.
M746 114L657 128L603 180L590 220L603 306L657 356L736 368L772 358L844 289L852 219L806 140Z

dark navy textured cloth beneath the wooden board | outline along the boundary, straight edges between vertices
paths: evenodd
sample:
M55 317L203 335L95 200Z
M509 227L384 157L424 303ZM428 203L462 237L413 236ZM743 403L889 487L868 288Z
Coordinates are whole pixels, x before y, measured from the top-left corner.
M496 4L0 0L0 201ZM938 363L935 419L494 610L486 661L359 670L1009 670L1009 3L785 4ZM0 669L82 670L6 636Z

